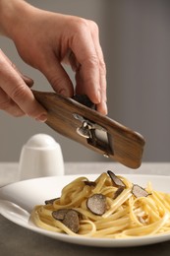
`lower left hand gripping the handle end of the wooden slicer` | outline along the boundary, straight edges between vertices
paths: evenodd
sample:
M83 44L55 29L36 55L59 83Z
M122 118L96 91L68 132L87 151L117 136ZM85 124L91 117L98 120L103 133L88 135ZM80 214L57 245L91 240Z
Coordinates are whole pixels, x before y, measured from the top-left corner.
M29 87L33 81L22 75L0 49L0 109L13 116L28 114L46 120L46 110L35 100Z

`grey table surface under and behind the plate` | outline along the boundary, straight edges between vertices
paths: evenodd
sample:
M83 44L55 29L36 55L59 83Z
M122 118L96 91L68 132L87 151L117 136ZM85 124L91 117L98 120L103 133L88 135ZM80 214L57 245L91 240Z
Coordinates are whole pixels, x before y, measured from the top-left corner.
M65 173L101 173L106 169L117 173L139 173L170 175L170 162L144 162L138 170L131 170L125 166L111 162L66 162ZM0 186L15 182L18 163L0 163ZM86 255L131 255L152 256L170 255L170 241L126 248L102 248L82 246L58 241L42 234L35 233L20 225L6 220L0 215L0 255L1 256L86 256Z

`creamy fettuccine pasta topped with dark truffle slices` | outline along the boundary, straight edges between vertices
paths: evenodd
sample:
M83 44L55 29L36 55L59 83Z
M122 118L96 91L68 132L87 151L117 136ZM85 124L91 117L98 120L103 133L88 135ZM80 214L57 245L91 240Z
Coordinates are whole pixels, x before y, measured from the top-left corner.
M66 185L60 198L35 206L37 226L74 236L127 238L170 232L170 195L133 184L113 172L95 181L79 177Z

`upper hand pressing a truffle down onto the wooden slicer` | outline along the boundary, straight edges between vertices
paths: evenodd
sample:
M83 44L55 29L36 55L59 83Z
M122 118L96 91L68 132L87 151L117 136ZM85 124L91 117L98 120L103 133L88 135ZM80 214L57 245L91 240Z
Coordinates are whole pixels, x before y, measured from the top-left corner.
M8 13L10 19L2 19L8 23L1 31L14 40L24 61L42 72L55 92L85 94L106 114L106 68L96 24L42 11L21 0L9 2L15 8ZM63 64L75 71L75 89Z

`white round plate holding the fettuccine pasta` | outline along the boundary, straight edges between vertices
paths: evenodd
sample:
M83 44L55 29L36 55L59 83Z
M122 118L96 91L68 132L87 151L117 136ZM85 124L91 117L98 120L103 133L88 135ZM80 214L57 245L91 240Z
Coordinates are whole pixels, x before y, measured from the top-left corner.
M84 176L88 177L90 180L94 180L98 175L85 174ZM151 181L154 189L170 193L169 176L140 174L124 174L124 176L141 186L145 186L148 181ZM41 229L28 221L29 213L35 205L44 204L46 199L59 197L61 189L76 177L78 177L78 175L36 178L2 187L0 188L0 214L15 224L22 225L54 239L88 246L128 247L170 240L170 233L119 239L73 237L68 234L55 233Z

